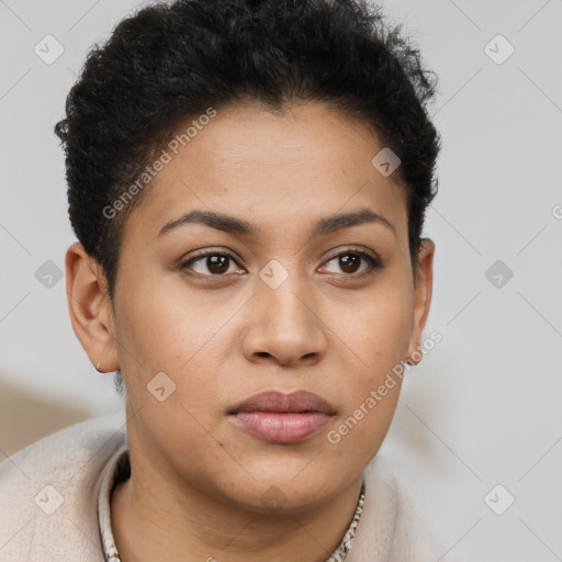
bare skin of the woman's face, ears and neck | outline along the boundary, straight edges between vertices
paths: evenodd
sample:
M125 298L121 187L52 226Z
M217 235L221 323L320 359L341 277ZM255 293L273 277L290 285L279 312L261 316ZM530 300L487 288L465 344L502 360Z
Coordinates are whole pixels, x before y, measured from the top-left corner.
M283 115L237 103L165 166L127 218L114 310L100 266L80 244L68 249L74 329L126 387L132 476L111 501L124 562L323 562L337 548L400 384L338 443L327 434L416 351L431 299L435 246L425 239L414 285L404 189L371 165L382 147L367 124L318 102ZM308 236L318 220L358 209L394 232L370 222ZM158 236L192 210L246 220L259 235L189 224ZM358 249L382 268L334 258ZM182 267L198 250L234 260ZM277 289L259 277L272 259L289 274ZM147 390L158 372L176 384L164 402ZM299 389L336 411L305 441L260 440L227 415L257 392ZM268 491L277 510L261 499Z

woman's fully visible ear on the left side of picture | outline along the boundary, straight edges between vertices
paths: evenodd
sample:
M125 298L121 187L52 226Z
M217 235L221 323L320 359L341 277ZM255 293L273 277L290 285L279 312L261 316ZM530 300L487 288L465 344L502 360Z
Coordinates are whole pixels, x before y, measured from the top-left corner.
M65 266L68 311L75 334L98 371L116 371L120 363L103 268L79 243L68 248Z

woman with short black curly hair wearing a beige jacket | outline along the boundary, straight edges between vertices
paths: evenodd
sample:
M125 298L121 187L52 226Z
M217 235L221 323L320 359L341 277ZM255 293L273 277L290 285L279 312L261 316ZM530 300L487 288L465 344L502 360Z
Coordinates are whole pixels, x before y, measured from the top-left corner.
M126 426L0 465L0 557L427 560L375 456L425 346L434 91L351 1L176 1L92 49L67 293Z

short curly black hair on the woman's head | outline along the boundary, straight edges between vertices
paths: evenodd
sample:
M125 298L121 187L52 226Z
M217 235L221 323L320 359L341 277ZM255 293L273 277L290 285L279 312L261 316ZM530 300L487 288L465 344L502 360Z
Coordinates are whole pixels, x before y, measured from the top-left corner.
M69 215L113 302L125 218L146 190L111 206L189 120L241 98L282 111L319 101L372 126L401 159L414 267L437 192L435 72L362 0L177 0L140 9L89 53L55 132ZM374 156L374 154L373 154ZM138 191L138 189L136 190ZM112 213L108 214L108 209Z

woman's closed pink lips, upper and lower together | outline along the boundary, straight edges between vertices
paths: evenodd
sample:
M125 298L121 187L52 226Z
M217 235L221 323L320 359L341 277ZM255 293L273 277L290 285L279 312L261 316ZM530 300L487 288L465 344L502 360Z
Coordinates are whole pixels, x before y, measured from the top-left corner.
M234 425L271 443L304 441L336 414L329 402L306 391L269 391L240 402L228 412Z

